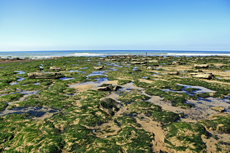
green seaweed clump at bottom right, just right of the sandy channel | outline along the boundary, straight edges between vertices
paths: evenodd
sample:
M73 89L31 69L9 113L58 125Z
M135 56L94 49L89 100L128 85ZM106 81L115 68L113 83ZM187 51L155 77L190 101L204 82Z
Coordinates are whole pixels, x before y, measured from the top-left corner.
M200 124L174 122L167 125L165 130L165 142L175 151L202 152L206 149L201 137L208 137L208 132Z

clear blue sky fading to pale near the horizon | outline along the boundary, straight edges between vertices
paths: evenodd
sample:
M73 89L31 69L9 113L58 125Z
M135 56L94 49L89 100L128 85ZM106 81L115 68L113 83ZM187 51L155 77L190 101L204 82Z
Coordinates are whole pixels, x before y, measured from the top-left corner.
M230 0L0 0L0 51L226 50Z

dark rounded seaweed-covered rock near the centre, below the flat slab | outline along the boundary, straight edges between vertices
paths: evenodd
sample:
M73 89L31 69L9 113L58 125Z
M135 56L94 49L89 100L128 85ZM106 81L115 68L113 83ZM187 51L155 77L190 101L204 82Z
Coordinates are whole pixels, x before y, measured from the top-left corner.
M109 115L114 115L119 110L117 107L118 102L112 98L100 99L100 109Z

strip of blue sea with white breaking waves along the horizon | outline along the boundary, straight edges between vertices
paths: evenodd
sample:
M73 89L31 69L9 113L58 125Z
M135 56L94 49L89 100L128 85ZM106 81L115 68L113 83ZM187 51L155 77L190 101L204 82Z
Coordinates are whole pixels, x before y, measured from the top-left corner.
M230 56L230 51L182 51L182 50L53 50L53 51L1 51L0 58L45 59L68 56L111 56L111 55L148 55L148 56Z

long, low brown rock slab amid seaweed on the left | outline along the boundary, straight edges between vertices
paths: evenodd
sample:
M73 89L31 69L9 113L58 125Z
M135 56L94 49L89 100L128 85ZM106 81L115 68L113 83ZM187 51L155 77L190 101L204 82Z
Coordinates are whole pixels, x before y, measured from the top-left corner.
M29 78L33 79L58 79L63 77L61 73L44 73L44 72L32 72L27 74Z

